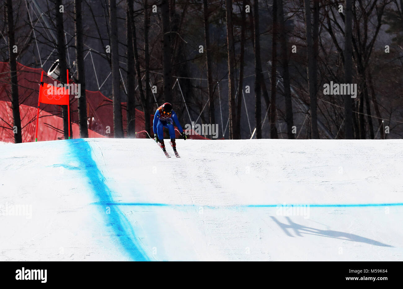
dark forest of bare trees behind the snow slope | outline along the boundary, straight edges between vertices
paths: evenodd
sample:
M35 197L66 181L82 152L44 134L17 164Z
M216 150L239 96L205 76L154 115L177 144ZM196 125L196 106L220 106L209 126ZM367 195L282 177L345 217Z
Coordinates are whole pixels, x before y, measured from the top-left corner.
M403 136L403 0L0 3L0 60L10 62L17 126L13 63L48 71L59 59L84 89L113 100L115 137L122 118L134 137L134 108L150 115L163 102L182 126L218 124L226 139ZM356 83L357 98L324 95L330 81ZM85 106L82 96L82 137Z

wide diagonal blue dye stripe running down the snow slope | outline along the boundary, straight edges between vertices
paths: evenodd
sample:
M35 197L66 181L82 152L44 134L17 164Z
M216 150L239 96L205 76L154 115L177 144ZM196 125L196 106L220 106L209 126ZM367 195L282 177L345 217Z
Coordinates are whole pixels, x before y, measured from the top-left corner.
M89 187L94 192L95 197L100 203L108 203L108 206L110 206L110 214L106 214L106 208L104 212L100 212L104 216L106 225L112 227L131 260L149 261L150 259L142 249L129 220L116 206L117 203L113 202L111 190L104 183L105 177L91 157L92 148L89 143L85 139L70 139L68 144L71 154L78 160L79 167L82 168L88 178Z

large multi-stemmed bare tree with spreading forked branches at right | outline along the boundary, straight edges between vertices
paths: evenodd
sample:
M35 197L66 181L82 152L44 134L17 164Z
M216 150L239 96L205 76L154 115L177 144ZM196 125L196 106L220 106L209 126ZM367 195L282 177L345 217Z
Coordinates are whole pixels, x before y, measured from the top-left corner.
M333 7L329 6L326 13L327 27L323 27L330 34L337 51L343 59L345 76L345 83L353 82L353 71L357 69L357 79L359 83L359 96L355 102L351 100L351 96L344 96L345 100L345 138L366 138L366 124L364 119L364 104L367 107L368 124L370 128L370 137L374 137L371 108L369 102L368 87L370 87L370 79L368 76L368 65L370 63L370 57L380 27L383 24L382 15L386 5L390 3L388 0L371 0L365 4L361 0L353 2L346 0L345 13L339 12L339 17L334 13ZM344 22L344 28L339 23L340 19ZM353 25L354 24L354 25ZM338 43L338 38L334 31L340 32L345 39L344 51ZM353 61L355 65L353 66ZM350 104L351 114L350 114ZM355 109L358 104L358 111ZM380 112L378 102L373 101L376 114ZM353 110L355 113L353 114ZM351 117L350 117L351 116ZM378 116L380 117L380 116ZM380 120L381 121L381 120ZM382 123L379 123L381 126ZM353 130L354 128L354 130Z

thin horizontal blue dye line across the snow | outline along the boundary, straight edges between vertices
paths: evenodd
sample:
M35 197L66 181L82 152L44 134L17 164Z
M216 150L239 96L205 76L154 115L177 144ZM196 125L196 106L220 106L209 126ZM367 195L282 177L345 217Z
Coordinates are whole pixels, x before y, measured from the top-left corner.
M382 204L262 204L262 205L228 205L228 206L209 206L196 204L164 204L164 203L119 203L119 202L97 202L93 205L105 206L166 206L166 207L203 207L210 209L233 209L233 208L276 208L276 207L318 207L318 208L335 208L335 207L387 207L387 206L403 206L403 203L382 203Z

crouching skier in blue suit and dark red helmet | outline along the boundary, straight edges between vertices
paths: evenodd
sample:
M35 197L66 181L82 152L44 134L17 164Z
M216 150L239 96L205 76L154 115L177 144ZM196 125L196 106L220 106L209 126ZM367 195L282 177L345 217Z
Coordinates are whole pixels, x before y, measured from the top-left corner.
M161 148L165 149L164 144L164 127L166 127L169 131L169 136L171 138L172 148L176 150L176 143L175 143L175 129L173 122L177 125L179 132L181 133L183 139L187 139L187 135L183 131L179 121L178 116L172 110L172 104L166 102L162 104L159 108L157 108L154 114L153 120L153 131L154 131L154 140L160 143Z

